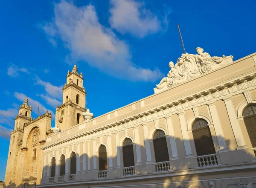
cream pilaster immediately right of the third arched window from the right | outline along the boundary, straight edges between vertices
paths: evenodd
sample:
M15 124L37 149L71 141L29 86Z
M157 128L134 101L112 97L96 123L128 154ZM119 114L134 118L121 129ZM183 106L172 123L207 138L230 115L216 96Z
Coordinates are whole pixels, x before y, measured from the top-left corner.
M169 142L171 144L171 150L172 150L172 160L179 159L178 152L177 152L177 146L172 126L172 119L171 116L166 117L166 124L168 127L168 134L169 134Z

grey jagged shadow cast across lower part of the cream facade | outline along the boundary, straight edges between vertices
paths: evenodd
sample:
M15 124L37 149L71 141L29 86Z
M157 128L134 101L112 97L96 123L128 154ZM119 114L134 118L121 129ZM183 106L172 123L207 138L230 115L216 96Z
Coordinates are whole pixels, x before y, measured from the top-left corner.
M161 139L162 141L160 142L159 140ZM60 157L59 159L55 159L56 165L54 168L54 164L51 164L52 159L49 159L49 164L44 166L45 173L43 174L43 178L41 179L41 185L52 184L56 186L59 183L81 182L80 185L85 187L128 186L130 188L133 186L137 187L139 186L138 184L144 184L146 185L144 187L150 188L177 188L182 186L183 184L189 184L193 187L195 186L201 188L210 188L208 185L208 181L206 181L205 184L202 183L202 181L198 181L198 179L228 179L232 177L232 182L235 185L235 182L239 182L239 179L236 179L236 177L241 178L241 176L251 176L253 173L254 176L256 176L255 168L251 168L249 170L245 168L242 170L234 169L232 171L225 171L224 173L221 173L221 170L223 170L222 167L225 166L230 167L234 164L243 164L243 166L250 165L253 160L256 160L255 154L252 150L230 150L230 140L225 140L225 143L227 145L227 151L218 152L218 141L220 141L221 139L224 140L224 138L217 138L216 136L212 136L212 145L215 151L209 153L209 155L207 156L197 156L199 150L209 151L209 144L204 143L204 141L206 139L209 140L209 138L202 137L201 139L202 142L194 140L185 140L183 142L183 140L175 138L178 158L173 156L173 143L171 141L174 140L174 138L169 136L163 136L154 140L144 140L143 144L145 147L133 143L132 145L126 145L116 148L116 150L119 150L119 157L117 157L116 155L112 155L112 159L111 157L109 157L111 156L111 153L109 151L108 145L106 146L105 151L100 151L101 147L99 147L99 150L96 151L96 155L92 157L88 157L86 153L80 156L78 155L78 153L76 153L76 155L74 156L75 158L72 158L73 153L59 153L59 156L61 156L61 154L64 154L66 156L64 160L62 159L62 161L64 161L64 164L63 162L61 163ZM156 143L157 141L158 145ZM192 155L188 155L189 150L187 148L185 149L185 145L186 147L190 145ZM207 145L207 148L204 148L204 145ZM125 149L125 147L127 148L130 146L132 146L132 149ZM91 150L93 149L91 148ZM128 152L131 152L133 154ZM115 153L117 152L115 151ZM70 156L68 156L69 154ZM168 156L161 158L159 157L161 155ZM168 160L161 161L161 159ZM96 160L96 163L94 162L94 160ZM113 164L112 167L110 165L111 160ZM88 166L89 161L90 166ZM120 166L118 166L119 164ZM126 167L124 167L124 164L126 164ZM134 165L127 166L128 164ZM201 172L202 169L209 170L211 168L217 169L210 172ZM105 169L107 170L105 171ZM136 177L144 177L145 179L136 179ZM109 180L109 182L104 182L105 180ZM256 182L256 179L254 180L254 182ZM222 184L219 185L219 187L221 186ZM4 187L35 188L36 185L33 182L24 182L24 184L20 185L16 185L15 182L8 182Z

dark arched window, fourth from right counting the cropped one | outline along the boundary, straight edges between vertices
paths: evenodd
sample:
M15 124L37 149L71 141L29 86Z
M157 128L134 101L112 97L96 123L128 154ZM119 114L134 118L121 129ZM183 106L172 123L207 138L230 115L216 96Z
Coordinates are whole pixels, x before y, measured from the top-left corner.
M134 153L131 139L125 139L122 147L124 167L134 166Z

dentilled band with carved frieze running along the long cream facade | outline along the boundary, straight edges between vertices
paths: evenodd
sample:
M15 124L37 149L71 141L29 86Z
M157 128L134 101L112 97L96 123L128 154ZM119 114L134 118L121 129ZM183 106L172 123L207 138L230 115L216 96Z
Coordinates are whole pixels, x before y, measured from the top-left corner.
M256 74L256 73L255 73ZM186 97L177 101L173 101L170 104L166 104L161 107L154 108L152 110L148 110L147 112L138 114L136 116L129 117L127 119L122 119L112 124L108 124L93 130L89 130L85 133L81 133L77 136L70 137L68 139L64 139L59 142L55 142L51 145L47 145L42 147L41 149L51 148L55 145L60 145L65 142L69 142L74 139L78 139L82 136L86 136L85 139L90 139L92 137L96 137L105 133L113 132L120 129L125 129L125 127L130 127L136 124L141 124L142 122L152 121L152 119L161 118L161 116L165 116L169 113L177 113L179 110L187 110L188 108L192 108L198 104L206 104L212 99L221 99L224 95L228 95L231 93L236 93L239 90L245 90L248 87L256 86L256 79L254 79L255 75L247 76L246 79L253 78L249 81L243 82L244 78L238 79L224 85L209 89L207 91L203 91L192 95L190 97ZM226 88L227 87L227 88ZM93 135L94 136L93 136Z

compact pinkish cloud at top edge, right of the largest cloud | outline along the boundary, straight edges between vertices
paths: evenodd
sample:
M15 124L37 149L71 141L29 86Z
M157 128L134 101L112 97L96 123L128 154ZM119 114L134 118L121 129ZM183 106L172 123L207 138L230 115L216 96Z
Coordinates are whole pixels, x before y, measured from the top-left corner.
M157 33L168 26L168 21L160 20L144 3L135 0L111 0L111 17L109 23L112 28L122 34L130 33L139 38ZM166 25L167 24L167 25Z

